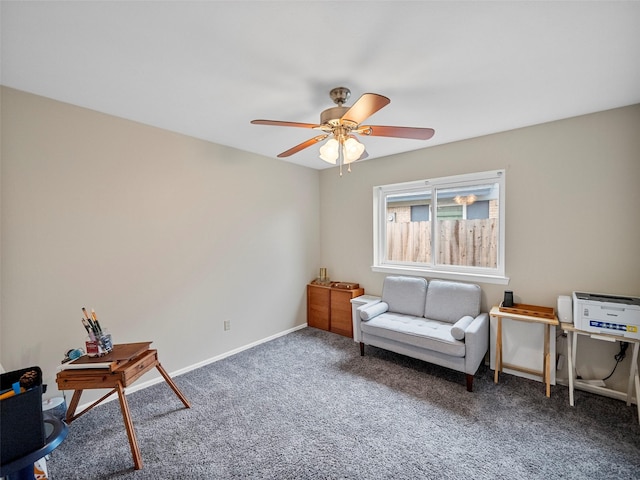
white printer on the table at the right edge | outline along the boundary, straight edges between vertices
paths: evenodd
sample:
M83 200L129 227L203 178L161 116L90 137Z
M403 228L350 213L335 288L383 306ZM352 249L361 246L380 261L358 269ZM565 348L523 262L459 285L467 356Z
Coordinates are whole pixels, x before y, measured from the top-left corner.
M578 330L640 339L640 298L573 292Z

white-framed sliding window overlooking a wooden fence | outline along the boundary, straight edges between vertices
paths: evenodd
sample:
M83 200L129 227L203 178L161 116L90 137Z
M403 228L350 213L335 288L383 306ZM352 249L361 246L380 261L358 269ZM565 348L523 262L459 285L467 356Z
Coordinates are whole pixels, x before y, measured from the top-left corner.
M374 271L508 283L505 172L374 187Z

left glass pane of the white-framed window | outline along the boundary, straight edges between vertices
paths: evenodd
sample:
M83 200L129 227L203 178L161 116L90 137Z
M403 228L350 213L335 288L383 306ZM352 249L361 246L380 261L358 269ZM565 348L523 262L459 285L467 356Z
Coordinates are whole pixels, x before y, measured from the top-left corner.
M387 261L431 262L430 205L430 191L387 195Z

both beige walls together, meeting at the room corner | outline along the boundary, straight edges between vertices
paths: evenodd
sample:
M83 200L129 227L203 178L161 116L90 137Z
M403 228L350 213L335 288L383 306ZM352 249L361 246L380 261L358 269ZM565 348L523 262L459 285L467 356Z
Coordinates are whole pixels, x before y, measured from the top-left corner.
M640 295L640 106L340 178L1 92L0 362L40 365L49 396L64 352L84 341L83 306L116 342L153 340L174 372L304 324L320 266L380 293L374 185L506 169L511 282L483 284L485 308L505 289L543 305L576 289Z

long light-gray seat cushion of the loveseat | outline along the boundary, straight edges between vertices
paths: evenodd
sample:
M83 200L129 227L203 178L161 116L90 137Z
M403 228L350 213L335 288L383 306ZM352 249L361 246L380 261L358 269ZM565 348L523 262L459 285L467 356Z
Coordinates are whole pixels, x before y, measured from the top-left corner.
M453 357L465 356L465 344L451 336L451 324L386 312L361 325L370 335L388 338Z

